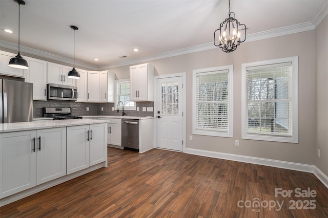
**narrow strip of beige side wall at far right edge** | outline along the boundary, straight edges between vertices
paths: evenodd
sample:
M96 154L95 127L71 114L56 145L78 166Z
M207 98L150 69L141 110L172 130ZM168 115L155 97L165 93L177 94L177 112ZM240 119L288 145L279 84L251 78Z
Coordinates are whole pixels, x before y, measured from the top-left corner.
M316 28L316 147L315 165L328 175L328 17ZM317 157L320 149L320 158Z

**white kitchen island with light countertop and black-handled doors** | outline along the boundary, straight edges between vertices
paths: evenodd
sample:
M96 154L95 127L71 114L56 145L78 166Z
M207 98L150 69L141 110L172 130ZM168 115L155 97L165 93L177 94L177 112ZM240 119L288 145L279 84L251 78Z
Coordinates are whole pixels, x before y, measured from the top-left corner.
M107 121L0 124L0 206L107 167Z

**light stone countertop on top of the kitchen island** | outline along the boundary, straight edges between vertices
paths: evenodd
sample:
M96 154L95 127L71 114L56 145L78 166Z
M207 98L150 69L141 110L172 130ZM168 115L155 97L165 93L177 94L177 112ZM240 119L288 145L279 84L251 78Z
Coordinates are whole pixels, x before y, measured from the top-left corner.
M20 123L1 123L0 133L17 132L33 129L45 129L56 127L67 127L77 125L88 125L96 123L107 123L106 120L93 119L71 119L71 120L37 120L34 122L20 122Z

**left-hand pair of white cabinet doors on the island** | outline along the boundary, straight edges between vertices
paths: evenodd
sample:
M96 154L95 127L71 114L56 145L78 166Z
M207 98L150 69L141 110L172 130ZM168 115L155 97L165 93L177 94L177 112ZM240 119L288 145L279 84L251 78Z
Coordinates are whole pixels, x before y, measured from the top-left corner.
M66 175L66 127L0 134L0 198Z

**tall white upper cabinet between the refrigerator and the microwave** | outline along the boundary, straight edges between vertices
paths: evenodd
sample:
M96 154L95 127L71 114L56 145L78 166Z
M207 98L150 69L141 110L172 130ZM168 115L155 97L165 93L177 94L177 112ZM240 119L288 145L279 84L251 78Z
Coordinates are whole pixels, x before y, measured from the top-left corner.
M31 57L26 58L29 69L24 70L25 81L33 83L33 100L47 100L48 62Z

